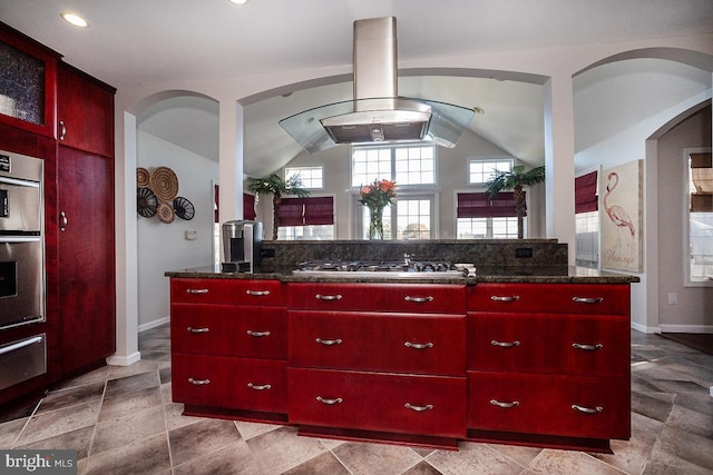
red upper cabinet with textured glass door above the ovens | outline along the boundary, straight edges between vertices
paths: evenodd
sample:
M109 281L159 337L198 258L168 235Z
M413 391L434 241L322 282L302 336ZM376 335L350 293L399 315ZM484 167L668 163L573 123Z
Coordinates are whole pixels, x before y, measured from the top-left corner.
M61 56L0 22L0 123L55 136Z

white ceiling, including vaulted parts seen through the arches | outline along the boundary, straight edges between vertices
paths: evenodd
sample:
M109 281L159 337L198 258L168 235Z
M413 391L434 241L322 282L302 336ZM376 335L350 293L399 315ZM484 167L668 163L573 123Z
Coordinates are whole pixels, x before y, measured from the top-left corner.
M66 10L90 27L66 24L59 17ZM0 0L3 22L119 89L350 65L353 20L383 16L398 18L400 60L713 31L711 0L250 0L244 7L226 0ZM399 93L482 108L471 131L535 165L544 157L543 87L502 79L406 76ZM575 88L580 150L710 90L711 71L621 61L582 75ZM652 92L662 89L665 95ZM280 119L351 99L352 85L291 92L245 103L246 174L273 171L301 152ZM217 159L217 102L174 98L144 110L138 121L149 133Z

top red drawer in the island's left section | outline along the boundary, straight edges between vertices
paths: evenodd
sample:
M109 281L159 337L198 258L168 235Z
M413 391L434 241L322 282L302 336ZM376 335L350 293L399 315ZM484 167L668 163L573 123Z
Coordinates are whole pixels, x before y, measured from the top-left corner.
M285 290L279 280L172 278L170 301L280 306Z

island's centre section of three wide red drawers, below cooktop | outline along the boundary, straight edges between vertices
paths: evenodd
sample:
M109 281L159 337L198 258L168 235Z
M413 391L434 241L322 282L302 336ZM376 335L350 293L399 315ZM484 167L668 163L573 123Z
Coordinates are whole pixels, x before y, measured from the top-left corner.
M458 285L290 284L290 422L462 437L465 298Z

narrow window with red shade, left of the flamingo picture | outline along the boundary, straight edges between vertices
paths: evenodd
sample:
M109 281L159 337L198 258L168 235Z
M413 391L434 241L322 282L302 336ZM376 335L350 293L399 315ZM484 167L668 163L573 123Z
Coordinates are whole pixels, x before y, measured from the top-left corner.
M578 266L599 267L599 197L597 171L575 178L575 260Z

